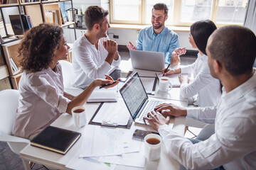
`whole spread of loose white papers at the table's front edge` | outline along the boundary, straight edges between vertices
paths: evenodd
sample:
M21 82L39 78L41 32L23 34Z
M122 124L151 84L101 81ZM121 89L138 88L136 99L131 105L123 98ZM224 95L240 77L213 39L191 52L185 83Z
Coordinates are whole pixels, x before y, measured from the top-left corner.
M90 166L94 169L109 169L103 164L107 162L112 168L114 164L143 168L144 142L133 140L133 132L134 128L128 130L87 125L82 135L82 145L66 167L80 169L80 166L86 165L87 169Z

